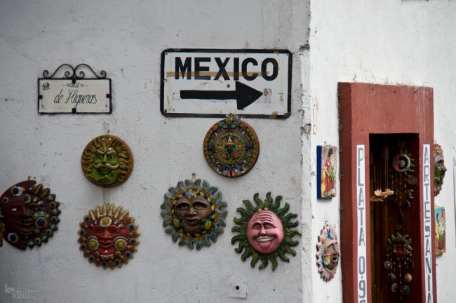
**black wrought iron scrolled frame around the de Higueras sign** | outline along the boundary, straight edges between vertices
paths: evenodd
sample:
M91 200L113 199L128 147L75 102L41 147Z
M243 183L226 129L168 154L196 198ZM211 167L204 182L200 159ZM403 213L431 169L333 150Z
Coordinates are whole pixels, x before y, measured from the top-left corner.
M64 76L61 78L54 77L58 72L62 69L67 69L64 73ZM91 72L93 74L93 77L91 78L85 78L86 73L84 70ZM62 72L60 71L60 72ZM43 72L43 78L38 79L38 104L37 104L37 109L39 114L111 114L112 113L112 88L111 88L111 79L106 78L106 72L105 70L102 70L100 72L100 75L98 75L92 67L87 65L86 63L81 63L79 65L76 65L76 67L72 67L72 65L69 65L67 63L64 63L60 65L57 69L55 69L55 72L49 76L50 72L46 69ZM77 80L83 80L83 81L96 81L96 80L107 80L109 83L109 93L106 94L106 97L109 98L109 111L108 112L77 112L76 107L72 108L72 112L40 112L40 100L43 99L43 95L40 94L40 81L41 80L71 80L72 83L76 83Z

